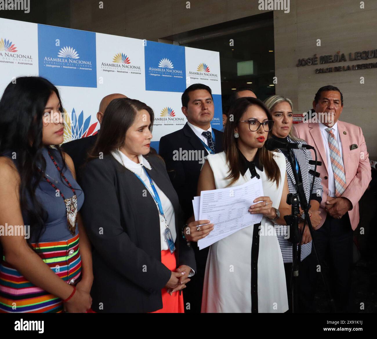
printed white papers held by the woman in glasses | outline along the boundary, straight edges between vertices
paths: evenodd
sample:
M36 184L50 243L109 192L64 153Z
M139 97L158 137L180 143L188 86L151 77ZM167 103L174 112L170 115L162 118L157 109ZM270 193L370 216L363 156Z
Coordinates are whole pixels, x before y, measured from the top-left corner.
M199 249L261 222L262 214L248 212L254 199L259 196L263 196L262 180L256 177L240 186L201 192L199 219L195 217L195 220L210 220L214 228L208 236L198 241Z

